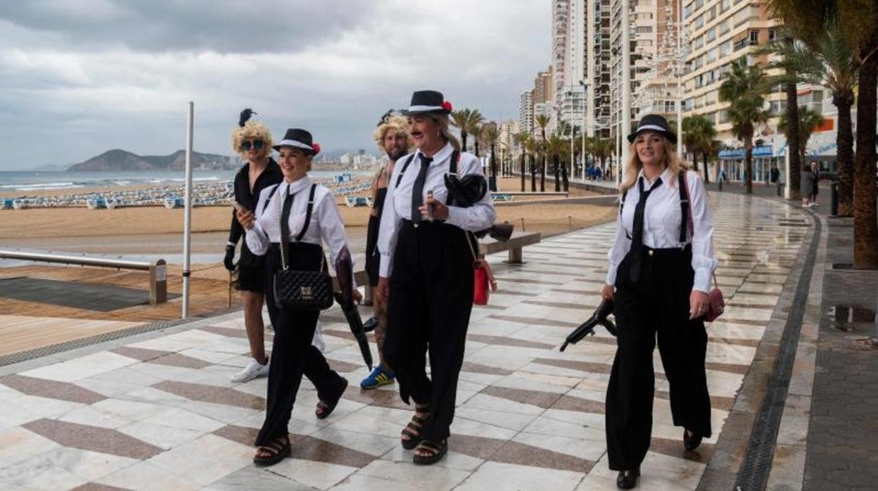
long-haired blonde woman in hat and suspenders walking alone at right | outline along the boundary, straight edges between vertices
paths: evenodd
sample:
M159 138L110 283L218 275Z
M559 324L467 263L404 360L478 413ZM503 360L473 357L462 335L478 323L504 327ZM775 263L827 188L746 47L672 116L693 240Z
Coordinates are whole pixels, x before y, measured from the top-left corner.
M698 174L681 168L677 135L665 118L650 114L628 141L631 156L601 289L601 297L615 302L619 329L606 426L609 468L619 471L616 485L624 489L637 486L650 447L657 336L673 423L684 428L686 450L710 437L702 318L716 269L708 195Z

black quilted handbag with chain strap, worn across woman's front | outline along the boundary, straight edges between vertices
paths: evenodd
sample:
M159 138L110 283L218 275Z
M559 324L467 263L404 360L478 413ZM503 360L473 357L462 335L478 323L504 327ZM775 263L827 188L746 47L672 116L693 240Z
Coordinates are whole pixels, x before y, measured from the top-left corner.
M311 195L308 199L308 208L305 218L305 227L296 237L296 242L302 240L305 236L307 227L311 221L311 212L313 210L314 190L316 184L311 188ZM280 201L278 200L278 204ZM278 213L283 217L283 213ZM287 259L290 244L287 242L289 237L289 224L286 220L281 220L281 244L280 257L282 270L275 271L274 288L275 303L278 308L284 309L303 309L303 310L326 310L333 304L333 285L332 278L326 271L326 261L323 254L320 254L320 270L291 270L290 262Z

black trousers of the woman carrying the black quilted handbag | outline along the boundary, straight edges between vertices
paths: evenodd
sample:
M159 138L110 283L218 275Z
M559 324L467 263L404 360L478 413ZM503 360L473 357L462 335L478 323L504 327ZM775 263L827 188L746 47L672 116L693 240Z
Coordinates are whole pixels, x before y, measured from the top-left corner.
M281 268L280 249L272 244L266 256L265 303L269 308L274 341L271 344L268 401L265 422L256 446L265 446L278 437L289 434L288 425L292 405L299 392L304 374L317 388L320 401L335 401L345 386L345 380L329 368L326 357L311 343L318 310L277 308L272 288L273 271ZM290 268L293 270L318 270L323 259L323 249L316 244L296 242L290 244Z

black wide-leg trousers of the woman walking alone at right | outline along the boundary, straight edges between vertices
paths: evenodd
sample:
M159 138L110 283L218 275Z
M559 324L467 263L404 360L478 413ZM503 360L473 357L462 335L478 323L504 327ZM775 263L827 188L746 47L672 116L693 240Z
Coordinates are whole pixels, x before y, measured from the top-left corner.
M642 273L630 281L631 255L619 264L615 282L615 320L619 329L607 388L609 468L640 466L650 448L655 373L659 355L671 388L675 426L710 437L710 396L704 372L708 336L701 320L689 320L694 271L692 251L642 251Z

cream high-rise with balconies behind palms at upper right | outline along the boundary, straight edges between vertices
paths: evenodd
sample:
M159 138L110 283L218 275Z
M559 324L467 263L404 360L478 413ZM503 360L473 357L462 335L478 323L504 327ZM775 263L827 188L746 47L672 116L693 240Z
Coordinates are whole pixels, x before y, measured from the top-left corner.
M714 121L720 140L735 145L728 104L719 101L719 87L732 61L746 56L750 63L767 62L766 55L753 51L774 40L777 22L758 0L684 0L683 23L690 46L688 72L683 76L684 117L707 116ZM785 98L781 93L766 96L775 115L785 108Z

